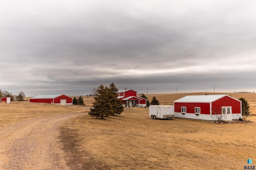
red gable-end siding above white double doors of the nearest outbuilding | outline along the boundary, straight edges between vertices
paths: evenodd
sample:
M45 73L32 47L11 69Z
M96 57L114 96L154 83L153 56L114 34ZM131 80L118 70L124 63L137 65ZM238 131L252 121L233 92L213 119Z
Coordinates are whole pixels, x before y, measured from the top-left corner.
M228 96L212 102L212 109L221 109L222 106L231 106L232 113L241 113L240 102Z

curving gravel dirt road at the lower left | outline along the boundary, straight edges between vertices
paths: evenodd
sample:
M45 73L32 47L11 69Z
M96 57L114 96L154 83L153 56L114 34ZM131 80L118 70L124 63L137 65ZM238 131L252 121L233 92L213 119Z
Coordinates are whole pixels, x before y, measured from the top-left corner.
M36 117L0 132L0 169L68 170L60 149L58 124L86 113Z

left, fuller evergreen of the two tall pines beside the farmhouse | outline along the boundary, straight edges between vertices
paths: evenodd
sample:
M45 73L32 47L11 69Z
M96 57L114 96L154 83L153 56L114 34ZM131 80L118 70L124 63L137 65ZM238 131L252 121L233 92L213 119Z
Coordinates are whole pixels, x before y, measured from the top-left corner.
M108 87L100 84L100 86L95 90L95 101L92 103L93 108L90 108L90 112L88 114L101 118L114 114L110 98L111 96Z

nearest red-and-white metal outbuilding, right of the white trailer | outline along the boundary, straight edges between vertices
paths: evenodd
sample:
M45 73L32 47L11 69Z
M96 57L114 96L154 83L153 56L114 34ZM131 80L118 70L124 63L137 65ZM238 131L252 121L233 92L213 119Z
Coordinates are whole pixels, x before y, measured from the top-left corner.
M174 101L175 117L218 120L218 114L224 115L223 120L239 119L242 102L226 94L185 96Z

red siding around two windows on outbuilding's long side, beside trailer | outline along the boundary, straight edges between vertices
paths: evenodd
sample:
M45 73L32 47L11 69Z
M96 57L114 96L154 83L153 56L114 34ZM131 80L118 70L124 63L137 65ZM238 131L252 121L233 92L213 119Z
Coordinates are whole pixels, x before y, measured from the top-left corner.
M181 113L181 107L186 107L186 113L195 113L195 107L200 107L201 114L210 114L210 103L174 103L174 112Z

